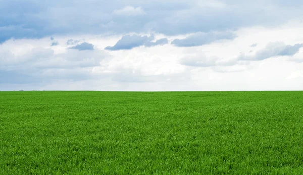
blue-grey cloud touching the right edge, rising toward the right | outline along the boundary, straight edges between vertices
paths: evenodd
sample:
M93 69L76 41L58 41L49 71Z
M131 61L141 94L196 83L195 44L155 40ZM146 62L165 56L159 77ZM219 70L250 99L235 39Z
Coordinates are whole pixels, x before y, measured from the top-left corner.
M293 56L302 47L303 43L296 43L291 46L285 45L284 42L271 42L264 49L257 51L255 55L246 56L245 54L241 54L238 60L265 60L277 56Z

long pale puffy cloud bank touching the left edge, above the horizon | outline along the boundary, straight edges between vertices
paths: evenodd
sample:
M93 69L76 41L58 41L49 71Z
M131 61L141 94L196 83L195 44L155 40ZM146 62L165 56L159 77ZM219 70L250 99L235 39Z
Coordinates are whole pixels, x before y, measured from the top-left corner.
M6 55L4 55L6 54ZM65 53L55 54L52 49L34 48L28 53L15 56L7 52L0 55L2 69L26 68L71 68L98 66L107 57L102 51L67 50Z

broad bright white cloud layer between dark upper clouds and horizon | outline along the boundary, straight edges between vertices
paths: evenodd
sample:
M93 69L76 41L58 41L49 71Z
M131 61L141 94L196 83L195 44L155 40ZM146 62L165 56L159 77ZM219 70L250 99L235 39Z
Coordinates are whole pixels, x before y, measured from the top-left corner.
M303 25L299 23L241 28L234 31L238 37L233 40L217 40L203 46L167 44L115 52L103 49L114 46L122 34L56 35L56 40L62 43L56 47L49 45L50 36L12 39L0 45L0 73L5 75L0 78L0 90L300 90L303 55L302 49L294 46L303 43L302 29ZM153 39L172 41L187 36L156 33ZM63 44L71 38L91 43L94 50L68 49L78 44ZM252 48L253 43L258 45ZM268 43L274 44L268 47ZM271 50L269 48L279 52L263 54L267 56L262 58L268 58L259 61L237 59L240 53L255 58L263 51ZM289 52L281 52L285 48Z

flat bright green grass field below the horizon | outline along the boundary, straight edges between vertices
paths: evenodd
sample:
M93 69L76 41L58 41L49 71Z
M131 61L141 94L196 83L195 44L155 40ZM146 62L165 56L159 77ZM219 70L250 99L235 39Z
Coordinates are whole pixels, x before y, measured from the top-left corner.
M303 92L0 92L0 174L303 173Z

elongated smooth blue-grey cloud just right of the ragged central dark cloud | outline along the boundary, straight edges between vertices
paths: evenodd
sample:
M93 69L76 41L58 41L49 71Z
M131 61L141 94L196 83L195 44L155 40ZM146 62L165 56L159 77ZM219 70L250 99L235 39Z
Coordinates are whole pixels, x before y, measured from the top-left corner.
M193 46L202 46L212 43L216 40L221 39L234 39L236 35L233 32L211 32L203 33L197 32L192 35L187 36L184 39L175 39L172 41L172 44L177 47L193 47Z

